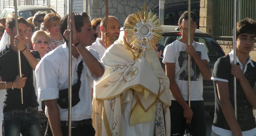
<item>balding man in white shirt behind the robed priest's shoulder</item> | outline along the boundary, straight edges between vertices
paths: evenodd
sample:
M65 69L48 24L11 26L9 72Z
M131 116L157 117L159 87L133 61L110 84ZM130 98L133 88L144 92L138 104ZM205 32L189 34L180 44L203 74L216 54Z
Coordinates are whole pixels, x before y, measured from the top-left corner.
M97 38L91 46L87 46L86 49L92 48L99 53L100 59L102 58L105 47L105 31L106 31L106 17L104 17L100 24L101 38ZM109 31L109 45L112 45L119 37L120 24L116 17L108 16L108 31Z

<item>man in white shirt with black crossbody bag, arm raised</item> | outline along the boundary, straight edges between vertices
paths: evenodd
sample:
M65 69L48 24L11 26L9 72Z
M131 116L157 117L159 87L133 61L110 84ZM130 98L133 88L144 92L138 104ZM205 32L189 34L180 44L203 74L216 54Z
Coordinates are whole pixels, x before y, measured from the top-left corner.
M98 53L85 47L94 42L95 30L89 16L76 13L71 16L72 24L72 135L94 136L92 127L92 99L90 86L104 73L104 64ZM46 116L49 119L48 135L68 134L68 15L60 21L60 32L66 43L49 52L35 70L38 95L46 100ZM65 31L65 32L64 32ZM73 88L74 87L74 88ZM49 125L52 132L49 130Z

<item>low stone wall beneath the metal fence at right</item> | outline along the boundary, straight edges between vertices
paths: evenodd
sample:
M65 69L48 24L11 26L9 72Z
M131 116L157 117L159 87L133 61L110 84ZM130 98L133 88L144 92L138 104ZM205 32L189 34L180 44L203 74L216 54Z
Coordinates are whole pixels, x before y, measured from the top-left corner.
M233 50L233 41L217 41L225 54L229 54ZM254 49L250 53L251 59L256 61L256 43L254 43Z

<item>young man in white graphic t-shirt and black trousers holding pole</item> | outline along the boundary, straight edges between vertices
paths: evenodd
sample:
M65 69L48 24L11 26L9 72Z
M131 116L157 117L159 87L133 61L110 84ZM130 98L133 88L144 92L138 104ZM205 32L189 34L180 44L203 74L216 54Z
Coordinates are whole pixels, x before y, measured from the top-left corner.
M206 136L205 106L203 105L202 79L210 80L209 58L205 44L195 42L194 32L198 26L198 18L191 12L191 43L188 43L188 12L184 12L178 21L182 37L166 46L163 63L170 79L172 105L171 136L183 136L188 128L190 134ZM190 73L187 66L178 75L183 65L187 65L187 54L191 56ZM188 75L191 77L191 107L188 105ZM176 78L175 78L176 77Z

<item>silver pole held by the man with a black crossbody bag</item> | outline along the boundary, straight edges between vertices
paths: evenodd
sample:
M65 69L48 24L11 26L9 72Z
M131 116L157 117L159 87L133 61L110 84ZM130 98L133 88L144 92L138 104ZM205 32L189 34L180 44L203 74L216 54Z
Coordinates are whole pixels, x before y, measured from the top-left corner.
M69 29L70 29L70 33L69 33L69 42L68 42L68 55L69 55L69 59L68 59L68 136L71 136L71 111L72 111L72 79L71 79L71 75L72 75L72 26L70 23L71 20L71 15L72 15L72 0L69 0L69 16L68 16L68 21L69 21Z

